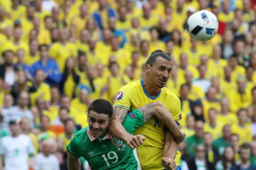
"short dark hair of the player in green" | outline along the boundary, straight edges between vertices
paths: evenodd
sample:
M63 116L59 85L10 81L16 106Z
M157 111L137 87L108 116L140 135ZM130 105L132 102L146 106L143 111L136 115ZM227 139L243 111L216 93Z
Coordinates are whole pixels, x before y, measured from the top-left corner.
M97 99L90 104L88 114L90 114L90 111L108 114L109 117L112 117L113 107L109 101L105 99Z

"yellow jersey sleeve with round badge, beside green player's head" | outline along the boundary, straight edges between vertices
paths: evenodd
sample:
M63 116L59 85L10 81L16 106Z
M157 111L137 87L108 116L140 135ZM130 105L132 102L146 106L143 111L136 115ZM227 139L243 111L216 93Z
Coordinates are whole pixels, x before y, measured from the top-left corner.
M130 110L130 106L132 104L132 101L136 99L136 92L133 87L131 87L129 84L123 86L118 91L113 107L121 107L126 108Z

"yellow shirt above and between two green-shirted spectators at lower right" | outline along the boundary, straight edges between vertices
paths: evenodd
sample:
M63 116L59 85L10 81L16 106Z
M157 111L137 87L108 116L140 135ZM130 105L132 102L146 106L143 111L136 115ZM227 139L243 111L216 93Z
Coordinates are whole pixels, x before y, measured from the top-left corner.
M203 131L210 133L212 135L212 140L215 140L217 138L222 137L223 126L224 126L224 124L222 124L221 122L217 122L217 121L216 121L215 127L212 127L209 123L205 123Z

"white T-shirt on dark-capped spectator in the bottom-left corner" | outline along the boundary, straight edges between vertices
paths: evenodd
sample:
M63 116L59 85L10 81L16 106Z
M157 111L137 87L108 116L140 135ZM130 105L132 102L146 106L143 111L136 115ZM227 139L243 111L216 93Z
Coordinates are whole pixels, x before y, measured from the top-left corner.
M27 157L33 153L34 146L25 134L0 139L0 155L4 155L4 170L28 170Z

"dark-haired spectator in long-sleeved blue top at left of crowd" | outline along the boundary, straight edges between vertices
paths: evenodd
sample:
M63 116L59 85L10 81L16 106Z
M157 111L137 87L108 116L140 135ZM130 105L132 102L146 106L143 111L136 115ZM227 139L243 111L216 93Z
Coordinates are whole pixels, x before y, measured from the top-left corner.
M54 60L49 59L48 46L41 45L39 51L40 60L31 66L31 75L34 76L36 70L42 70L46 75L45 82L47 84L52 85L60 83L62 75L59 71L58 64Z

